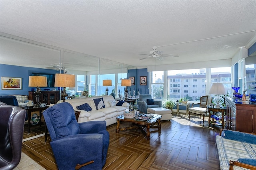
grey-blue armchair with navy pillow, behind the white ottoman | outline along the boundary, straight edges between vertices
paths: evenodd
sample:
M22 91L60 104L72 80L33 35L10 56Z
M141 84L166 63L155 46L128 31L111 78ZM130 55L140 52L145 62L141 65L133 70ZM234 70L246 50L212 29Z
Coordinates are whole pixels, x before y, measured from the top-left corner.
M162 101L154 99L154 104L150 103L151 105L148 105L148 100L147 99L152 99L151 95L146 94L146 95L140 95L139 101L137 102L139 111L142 113L148 113L148 108L156 108L156 107L162 107Z

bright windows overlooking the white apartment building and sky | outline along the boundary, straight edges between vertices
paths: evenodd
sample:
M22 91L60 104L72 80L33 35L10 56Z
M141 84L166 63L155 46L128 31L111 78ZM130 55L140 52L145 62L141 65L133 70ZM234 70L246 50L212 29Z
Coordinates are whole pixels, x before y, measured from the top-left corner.
M160 73L160 71L153 71L152 75L155 75L156 72ZM227 88L226 90L231 89L231 67L223 67L216 70L210 69L208 72L211 73L211 78L208 82L222 82L225 88ZM167 98L174 100L187 98L195 101L201 96L206 95L206 82L208 79L206 77L206 69L170 70L167 71L166 76L167 83L163 81L165 79L164 71L160 73L157 79L160 83L161 93L167 94ZM156 85L156 83L154 82L152 85ZM152 85L151 88L154 89ZM151 91L153 91L152 89ZM153 93L152 97L156 98Z

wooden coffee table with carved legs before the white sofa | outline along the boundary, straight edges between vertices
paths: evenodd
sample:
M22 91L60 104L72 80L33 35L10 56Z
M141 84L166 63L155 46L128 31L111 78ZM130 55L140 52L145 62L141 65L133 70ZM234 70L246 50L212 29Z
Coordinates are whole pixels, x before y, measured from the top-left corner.
M143 115L145 115L145 114L143 114ZM143 115L140 115L140 116L143 116ZM119 133L119 131L122 131L122 130L130 130L130 129L134 129L134 128L135 129L140 128L142 133L147 137L147 140L149 140L150 139L149 128L158 128L158 130L161 130L160 119L162 118L161 115L156 115L156 114L151 114L151 115L154 115L154 117L148 121L141 121L141 120L138 120L137 118L132 118L132 119L124 118L124 115L120 115L120 116L116 117L116 120L117 120L116 132ZM120 121L131 122L133 124L133 126L120 128ZM145 127L146 127L146 131L144 130Z

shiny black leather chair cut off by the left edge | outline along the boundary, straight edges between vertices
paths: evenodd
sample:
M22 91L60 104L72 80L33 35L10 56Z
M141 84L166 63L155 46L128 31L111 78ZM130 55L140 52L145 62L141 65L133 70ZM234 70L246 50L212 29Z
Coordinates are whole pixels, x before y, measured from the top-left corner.
M20 162L26 110L0 102L0 169L12 170Z

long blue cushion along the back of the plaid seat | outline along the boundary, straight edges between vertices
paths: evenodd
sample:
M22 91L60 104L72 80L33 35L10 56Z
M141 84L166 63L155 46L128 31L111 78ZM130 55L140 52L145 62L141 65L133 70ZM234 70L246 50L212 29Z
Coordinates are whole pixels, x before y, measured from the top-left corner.
M224 130L223 132L224 132L223 137L226 139L256 144L256 135L233 131L233 130Z

